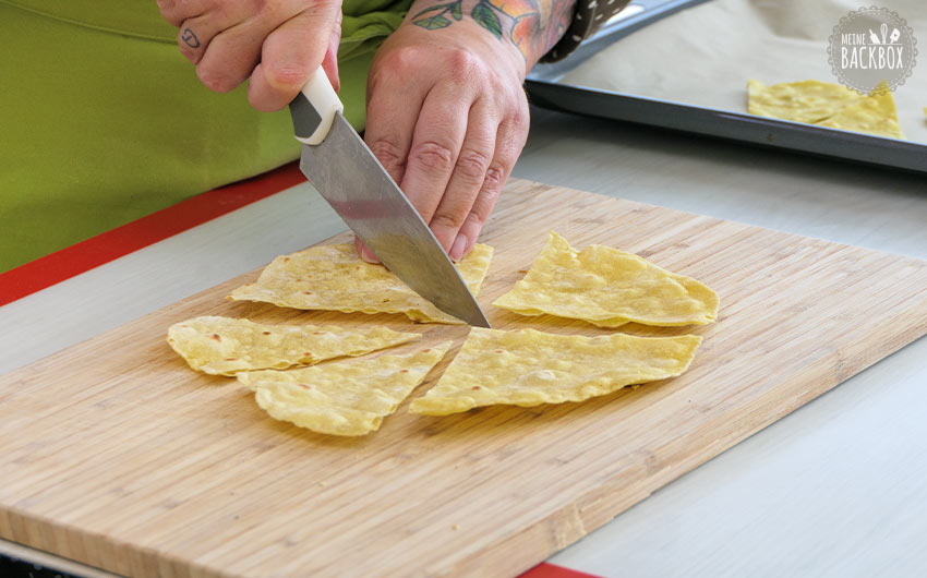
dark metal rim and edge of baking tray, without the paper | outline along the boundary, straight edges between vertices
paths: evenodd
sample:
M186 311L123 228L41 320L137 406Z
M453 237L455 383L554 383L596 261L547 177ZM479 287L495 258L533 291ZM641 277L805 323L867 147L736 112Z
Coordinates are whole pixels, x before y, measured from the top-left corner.
M622 38L682 10L708 1L711 0L635 0L566 59L534 67L526 82L529 100L533 105L564 112L927 173L927 145L917 142L756 117L745 111L696 106L564 82L564 76ZM744 84L746 85L746 79ZM744 99L746 100L746 96Z

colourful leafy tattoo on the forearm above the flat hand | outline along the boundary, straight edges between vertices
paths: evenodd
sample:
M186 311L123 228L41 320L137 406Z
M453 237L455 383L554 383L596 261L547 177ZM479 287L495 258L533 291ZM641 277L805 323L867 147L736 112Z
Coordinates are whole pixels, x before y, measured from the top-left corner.
M557 44L576 5L576 0L450 0L428 5L433 1L416 2L412 24L436 31L469 15L496 38L510 40L529 64Z

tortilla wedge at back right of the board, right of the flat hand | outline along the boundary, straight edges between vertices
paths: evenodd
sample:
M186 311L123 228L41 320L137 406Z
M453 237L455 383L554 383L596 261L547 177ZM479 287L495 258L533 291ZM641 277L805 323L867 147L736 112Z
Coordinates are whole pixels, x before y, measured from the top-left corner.
M576 251L555 232L525 278L493 305L600 327L703 325L718 316L718 296L697 280L609 246Z

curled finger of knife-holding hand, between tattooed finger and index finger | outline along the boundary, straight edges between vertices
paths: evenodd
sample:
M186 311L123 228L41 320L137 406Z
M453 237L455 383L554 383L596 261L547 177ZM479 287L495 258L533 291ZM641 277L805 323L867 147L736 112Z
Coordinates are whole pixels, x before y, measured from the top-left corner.
M257 65L261 43L269 26L248 21L220 32L196 64L196 75L212 91L227 93L243 83Z

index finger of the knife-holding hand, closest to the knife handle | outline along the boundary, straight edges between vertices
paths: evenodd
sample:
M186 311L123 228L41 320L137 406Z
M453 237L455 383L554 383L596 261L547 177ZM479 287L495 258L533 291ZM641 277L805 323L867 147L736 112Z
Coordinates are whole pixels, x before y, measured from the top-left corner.
M337 10L330 0L314 2L267 36L248 87L254 108L279 110L305 86L328 50Z

